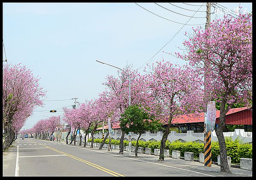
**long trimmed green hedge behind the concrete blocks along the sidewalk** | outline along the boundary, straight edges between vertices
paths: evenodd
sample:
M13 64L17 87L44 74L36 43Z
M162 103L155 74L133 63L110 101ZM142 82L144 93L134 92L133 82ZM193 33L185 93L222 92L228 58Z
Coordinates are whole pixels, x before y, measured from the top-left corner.
M88 139L88 142L91 142L91 139ZM95 143L102 143L102 139L94 139ZM108 144L109 139L106 140L106 144ZM154 153L154 149L160 149L160 141L139 141L139 147L151 148L151 152ZM111 140L111 144L119 145L119 140ZM124 146L129 145L128 141L124 140ZM131 141L132 146L136 146L136 141ZM233 141L230 138L226 138L226 148L227 148L227 156L231 157L231 163L240 163L240 158L253 158L253 150L252 144L241 144L239 139ZM204 153L204 143L199 142L169 142L166 141L165 149L169 149L170 155L172 155L172 151L180 151L180 156L184 157L184 152L192 152L194 153L194 158L199 159L199 154ZM220 147L218 142L211 143L212 150L212 161L217 162L217 157L220 154Z

